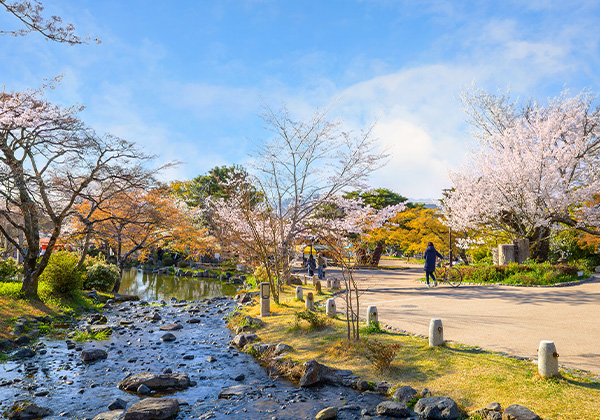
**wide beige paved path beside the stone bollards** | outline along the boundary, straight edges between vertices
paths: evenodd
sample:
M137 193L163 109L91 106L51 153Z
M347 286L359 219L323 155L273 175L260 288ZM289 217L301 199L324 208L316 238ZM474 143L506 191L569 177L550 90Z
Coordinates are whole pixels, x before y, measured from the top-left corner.
M387 264L387 262L386 262ZM335 276L335 269L328 269ZM559 363L600 375L600 278L568 287L440 285L415 279L421 266L402 271L358 271L364 293L361 317L376 305L379 320L428 335L441 318L444 338L483 349L537 358L541 340L556 344ZM338 303L338 305L341 302Z

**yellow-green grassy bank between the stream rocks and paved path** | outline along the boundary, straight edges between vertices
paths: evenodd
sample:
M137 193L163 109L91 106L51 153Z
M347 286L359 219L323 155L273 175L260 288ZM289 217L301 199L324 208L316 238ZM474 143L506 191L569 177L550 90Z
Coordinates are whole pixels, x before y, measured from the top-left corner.
M308 288L305 294L307 291ZM325 292L316 295L315 300L322 302L328 297ZM293 289L284 290L281 304L271 303L272 316L262 318L265 324L256 331L261 341L291 345L295 362L316 359L329 366L351 369L368 381L410 385L417 390L428 388L435 396L451 397L466 412L497 401L503 407L524 405L540 417L553 420L600 419L600 383L584 375L561 372L559 378L543 380L531 362L456 343L429 348L426 339L393 332L364 331L361 341L347 341L342 314L325 328L314 329L305 321L297 322L295 314L303 308L303 302L293 298ZM259 306L247 307L245 311L258 316ZM367 358L366 340L400 344L388 369L374 369Z

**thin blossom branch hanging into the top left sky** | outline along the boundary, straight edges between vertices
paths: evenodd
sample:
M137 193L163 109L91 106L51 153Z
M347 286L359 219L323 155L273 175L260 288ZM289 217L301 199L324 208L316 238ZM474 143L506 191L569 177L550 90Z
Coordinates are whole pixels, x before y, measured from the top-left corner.
M70 23L64 24L60 16L44 18L42 15L44 6L39 0L0 0L0 5L25 26L21 29L0 31L2 35L25 36L37 32L49 41L64 42L69 45L86 44L88 41L100 43L99 39L92 39L88 35L81 39L75 33L75 27Z

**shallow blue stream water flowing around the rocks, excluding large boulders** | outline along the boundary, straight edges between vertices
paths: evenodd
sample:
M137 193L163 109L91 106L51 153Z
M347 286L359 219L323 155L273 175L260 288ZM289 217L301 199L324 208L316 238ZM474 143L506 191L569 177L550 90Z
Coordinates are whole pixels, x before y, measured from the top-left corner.
M110 339L81 345L105 349L106 360L85 364L81 361L81 348L67 350L64 340L43 339L45 354L38 351L31 359L0 365L0 383L18 381L0 386L0 413L17 400L29 400L51 408L53 416L48 419L92 419L108 411L108 405L116 398L126 400L128 407L140 400L136 394L117 388L126 376L144 371L162 373L165 368L186 373L197 382L196 386L167 396L186 403L178 419L314 419L321 409L344 404L350 408L340 412L339 419L361 418L362 408L374 410L383 399L349 388L303 389L270 378L251 356L229 344L233 335L226 328L224 317L234 308L232 301L218 298L170 302L164 306L119 304L105 313L108 324L114 326ZM155 312L162 318L160 321L145 319ZM199 322L187 322L191 319ZM119 325L123 321L132 323ZM184 328L173 331L176 341L162 342L165 332L159 327L168 323L180 323ZM209 361L209 356L216 360ZM222 389L240 384L250 386L242 398L218 398Z

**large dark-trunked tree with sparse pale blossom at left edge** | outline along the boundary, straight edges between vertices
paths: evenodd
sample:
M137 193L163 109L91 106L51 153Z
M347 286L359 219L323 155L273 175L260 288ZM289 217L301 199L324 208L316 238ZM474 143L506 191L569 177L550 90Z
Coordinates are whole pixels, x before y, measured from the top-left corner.
M81 109L54 105L41 91L0 95L0 233L24 258L27 297L37 297L39 275L86 188L144 156L133 143L94 133ZM42 228L49 243L38 258Z

